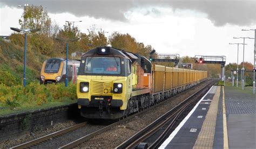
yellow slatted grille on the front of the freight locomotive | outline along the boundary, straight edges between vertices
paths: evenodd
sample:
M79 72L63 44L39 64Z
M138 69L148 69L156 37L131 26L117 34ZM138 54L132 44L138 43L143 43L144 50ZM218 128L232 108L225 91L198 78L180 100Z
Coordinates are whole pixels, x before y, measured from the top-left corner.
M105 89L105 93L104 93ZM107 92L106 92L107 89ZM110 82L96 82L92 81L92 93L93 94L109 94L111 92Z

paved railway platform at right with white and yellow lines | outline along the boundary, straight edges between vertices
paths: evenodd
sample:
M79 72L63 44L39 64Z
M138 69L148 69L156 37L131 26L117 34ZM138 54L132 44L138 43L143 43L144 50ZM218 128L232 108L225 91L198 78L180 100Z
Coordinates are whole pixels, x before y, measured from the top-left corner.
M255 94L212 86L159 148L256 148Z

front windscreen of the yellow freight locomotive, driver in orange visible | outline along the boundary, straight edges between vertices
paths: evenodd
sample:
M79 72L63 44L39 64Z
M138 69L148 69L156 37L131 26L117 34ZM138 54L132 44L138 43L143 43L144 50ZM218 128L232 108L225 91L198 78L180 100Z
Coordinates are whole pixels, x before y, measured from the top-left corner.
M84 73L117 75L121 73L119 57L87 57Z

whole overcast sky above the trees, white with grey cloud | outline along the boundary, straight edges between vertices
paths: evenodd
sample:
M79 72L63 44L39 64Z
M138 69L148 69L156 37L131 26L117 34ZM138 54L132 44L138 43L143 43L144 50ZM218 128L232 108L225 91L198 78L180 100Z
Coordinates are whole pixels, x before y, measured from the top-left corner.
M52 21L60 26L65 21L75 23L82 31L96 24L111 35L113 31L129 33L150 44L158 53L179 53L182 56L224 55L227 63L237 63L237 45L253 37L256 1L247 0L0 0L0 35L10 35L10 26L19 28L23 8L18 5L43 5ZM253 63L254 40L245 39L245 61ZM239 63L242 62L242 45ZM226 63L226 64L227 64Z

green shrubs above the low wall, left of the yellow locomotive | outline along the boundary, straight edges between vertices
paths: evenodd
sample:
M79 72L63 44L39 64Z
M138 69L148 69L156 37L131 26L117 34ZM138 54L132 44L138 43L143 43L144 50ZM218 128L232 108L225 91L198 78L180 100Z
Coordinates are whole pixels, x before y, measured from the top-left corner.
M76 85L72 83L68 87L63 83L41 85L34 82L26 87L0 84L0 107L9 110L28 110L45 104L72 103L72 101L75 103L75 99Z

